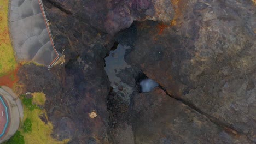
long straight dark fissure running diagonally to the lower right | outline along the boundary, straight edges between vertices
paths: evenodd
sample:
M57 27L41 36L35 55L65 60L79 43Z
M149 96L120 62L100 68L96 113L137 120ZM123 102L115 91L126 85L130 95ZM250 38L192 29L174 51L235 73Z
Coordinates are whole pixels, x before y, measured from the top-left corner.
M220 128L225 130L227 133L235 135L235 136L239 136L239 135L247 136L246 134L242 133L242 131L238 131L238 130L232 128L232 126L230 124L227 124L227 123L224 123L222 121L219 121L216 117L213 117L213 116L208 115L207 113L203 112L198 107L196 107L194 104L191 104L191 103L189 103L188 101L186 101L184 99L180 99L180 98L174 97L173 95L169 94L164 87L159 85L159 88L161 88L163 91L165 91L166 95L168 95L169 97L171 97L171 98L173 98L175 100L181 101L181 103L183 103L184 105L187 105L191 109L199 112L201 115L206 116L208 119L210 119L211 122L213 122L214 124L218 125Z

